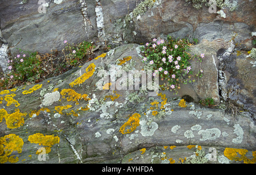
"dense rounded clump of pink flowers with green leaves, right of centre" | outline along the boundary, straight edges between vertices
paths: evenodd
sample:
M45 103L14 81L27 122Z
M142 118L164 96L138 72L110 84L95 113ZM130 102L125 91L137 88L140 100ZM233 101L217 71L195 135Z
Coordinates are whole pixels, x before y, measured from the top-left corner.
M187 84L187 82L194 82L192 80L192 68L189 60L197 56L191 56L189 52L189 40L174 39L168 36L167 41L153 39L152 43L146 43L142 47L144 51L143 62L151 66L155 71L152 76L159 73L162 80L167 80L167 83L160 85L163 90L177 90L180 89L180 84ZM202 61L204 53L198 57ZM196 73L196 76L203 76L203 70Z

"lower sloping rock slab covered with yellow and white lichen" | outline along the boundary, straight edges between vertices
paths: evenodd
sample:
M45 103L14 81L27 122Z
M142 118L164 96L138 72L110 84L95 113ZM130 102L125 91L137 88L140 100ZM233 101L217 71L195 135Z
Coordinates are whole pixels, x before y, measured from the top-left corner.
M126 71L144 68L138 51L123 45L40 84L1 91L1 163L255 162L250 116L236 119L193 102L180 107L170 91L150 96L150 86L118 90ZM109 76L112 84L105 84ZM20 149L7 152L6 140Z

